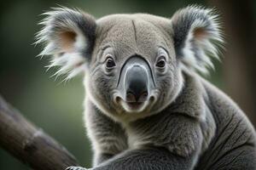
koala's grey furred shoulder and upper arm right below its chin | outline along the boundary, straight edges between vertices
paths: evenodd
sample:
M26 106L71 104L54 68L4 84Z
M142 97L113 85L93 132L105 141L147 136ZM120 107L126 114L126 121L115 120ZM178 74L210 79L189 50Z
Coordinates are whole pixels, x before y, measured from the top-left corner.
M216 124L205 104L204 93L197 78L185 76L183 91L172 105L157 115L130 124L131 142L164 146L179 156L207 150Z

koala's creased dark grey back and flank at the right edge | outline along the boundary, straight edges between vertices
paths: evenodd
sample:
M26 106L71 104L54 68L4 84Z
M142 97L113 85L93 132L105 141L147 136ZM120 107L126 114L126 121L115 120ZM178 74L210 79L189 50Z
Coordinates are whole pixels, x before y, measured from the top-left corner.
M202 153L197 168L220 168L225 165L230 169L235 168L234 166L238 169L254 169L256 133L252 123L226 94L203 79L201 82L207 92L206 104L214 119L216 130Z

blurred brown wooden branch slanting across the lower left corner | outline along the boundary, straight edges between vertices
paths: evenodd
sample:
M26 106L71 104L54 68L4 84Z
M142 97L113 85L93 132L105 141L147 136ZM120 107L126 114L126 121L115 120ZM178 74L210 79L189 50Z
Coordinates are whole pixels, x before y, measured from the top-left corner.
M55 139L28 122L0 95L0 147L37 170L64 170L78 161Z

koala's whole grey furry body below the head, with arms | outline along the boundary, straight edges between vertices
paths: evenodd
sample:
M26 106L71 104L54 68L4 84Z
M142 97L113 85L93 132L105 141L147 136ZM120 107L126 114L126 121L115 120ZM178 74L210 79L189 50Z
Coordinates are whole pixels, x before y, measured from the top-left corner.
M125 128L90 110L85 118L90 139L103 144L95 148L95 166L90 169L254 170L256 135L247 117L209 82L188 72L184 75L185 88L176 102ZM91 119L90 115L97 116ZM200 115L205 119L195 119ZM123 149L113 154L117 148Z

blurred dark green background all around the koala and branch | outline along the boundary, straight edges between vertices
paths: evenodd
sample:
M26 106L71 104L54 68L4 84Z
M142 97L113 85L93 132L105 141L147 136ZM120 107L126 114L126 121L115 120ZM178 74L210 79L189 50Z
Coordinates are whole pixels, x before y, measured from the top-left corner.
M223 62L214 60L215 71L207 77L229 94L255 118L255 1L224 0L13 0L2 1L0 10L0 94L20 110L26 118L42 127L67 147L85 167L90 167L90 142L83 121L84 88L82 77L60 83L50 78L54 70L45 72L48 59L38 59L41 47L34 47L34 35L44 11L58 4L79 7L100 18L114 13L149 13L171 17L189 4L216 7L222 16L227 39ZM0 169L30 169L0 149Z

